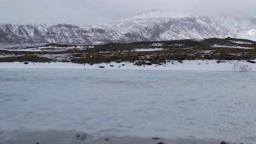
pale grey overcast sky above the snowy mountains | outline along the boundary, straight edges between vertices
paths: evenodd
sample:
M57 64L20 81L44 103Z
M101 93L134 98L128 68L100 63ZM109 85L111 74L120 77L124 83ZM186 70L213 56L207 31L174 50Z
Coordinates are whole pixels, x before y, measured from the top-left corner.
M103 24L159 9L256 17L256 0L0 0L0 23Z

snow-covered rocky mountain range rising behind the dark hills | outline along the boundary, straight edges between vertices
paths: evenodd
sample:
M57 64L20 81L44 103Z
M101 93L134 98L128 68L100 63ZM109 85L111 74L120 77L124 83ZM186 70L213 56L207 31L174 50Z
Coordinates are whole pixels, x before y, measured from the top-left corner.
M105 25L0 24L0 43L103 44L228 36L256 40L256 19L170 18L159 10L150 10Z

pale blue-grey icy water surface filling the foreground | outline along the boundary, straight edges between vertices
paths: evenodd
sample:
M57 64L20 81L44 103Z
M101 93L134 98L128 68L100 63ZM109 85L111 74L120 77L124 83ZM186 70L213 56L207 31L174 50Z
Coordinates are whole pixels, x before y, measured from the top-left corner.
M256 142L256 73L0 69L0 142L17 131Z

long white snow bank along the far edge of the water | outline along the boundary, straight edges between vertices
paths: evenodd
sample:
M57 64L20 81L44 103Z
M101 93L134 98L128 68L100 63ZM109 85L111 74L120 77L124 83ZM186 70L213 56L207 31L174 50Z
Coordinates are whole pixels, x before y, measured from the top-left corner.
M124 65L123 65L124 64ZM110 65L114 65L111 67ZM29 62L25 65L23 62L0 62L0 69L122 69L122 70L191 70L191 71L234 71L233 65L248 65L253 71L256 71L256 64L246 61L223 61L217 63L217 60L185 60L183 63L177 61L167 62L165 65L144 65L137 66L128 62L111 62L102 64L75 64L66 62L35 63ZM104 66L104 68L99 68Z

